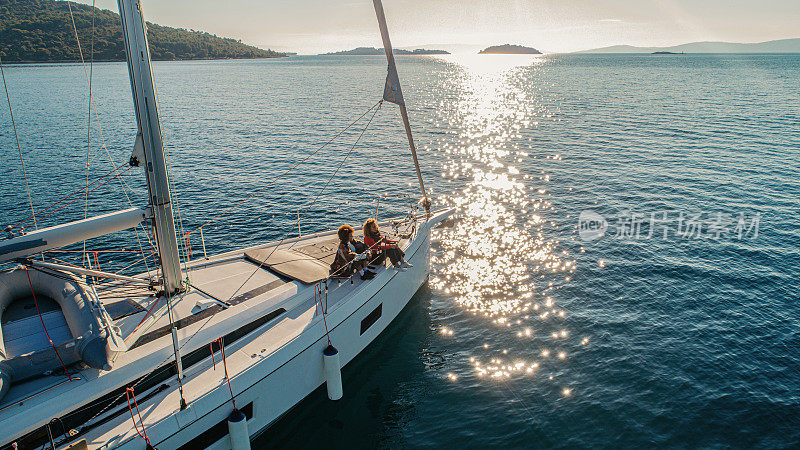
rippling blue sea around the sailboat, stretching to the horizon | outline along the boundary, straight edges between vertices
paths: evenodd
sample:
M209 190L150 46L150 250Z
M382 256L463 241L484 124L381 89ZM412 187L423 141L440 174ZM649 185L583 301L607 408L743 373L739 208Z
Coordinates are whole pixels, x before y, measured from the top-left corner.
M429 284L345 368L345 398L315 392L258 447L800 445L800 55L398 64L429 190L459 220L434 236ZM379 57L154 67L186 231L364 113L385 73ZM92 72L90 181L127 161L135 136L126 67ZM5 75L42 209L86 184L86 75ZM209 225L208 252L296 234L298 209L311 232L358 225L378 194L416 195L391 104L321 191L369 117ZM5 227L30 215L5 105L0 158ZM38 225L127 207L125 193L144 204L139 169L122 180ZM579 217L605 235L581 233ZM139 249L132 232L90 247Z

